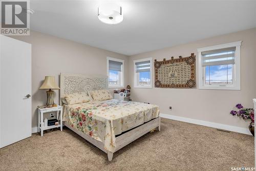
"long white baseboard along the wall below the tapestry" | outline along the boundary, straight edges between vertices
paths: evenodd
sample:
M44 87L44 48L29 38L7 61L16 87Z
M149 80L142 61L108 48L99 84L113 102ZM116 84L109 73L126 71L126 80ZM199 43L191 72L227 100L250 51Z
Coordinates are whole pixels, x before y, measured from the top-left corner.
M162 113L160 113L160 117L166 118L166 119L178 120L178 121L182 121L182 122L194 123L194 124L208 126L208 127L214 127L214 128L221 129L221 130L227 130L227 131L251 135L249 129L246 129L244 127L225 125L225 124L221 124L221 123L214 123L214 122L208 122L208 121L203 121L203 120L184 118L184 117L180 117L180 116L167 115L167 114L162 114Z

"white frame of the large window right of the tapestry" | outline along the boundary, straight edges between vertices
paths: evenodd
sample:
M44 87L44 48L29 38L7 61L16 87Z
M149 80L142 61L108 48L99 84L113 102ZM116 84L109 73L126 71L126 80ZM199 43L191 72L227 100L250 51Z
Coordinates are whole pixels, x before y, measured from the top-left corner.
M198 78L199 78L199 89L212 89L212 90L241 90L241 66L240 66L240 56L241 56L241 42L230 42L228 44L210 46L205 48L199 48L198 51ZM202 60L202 52L216 50L216 49L223 49L223 48L230 48L236 47L236 51L234 52L234 66L233 66L233 84L212 84L206 85L205 81L205 67L203 67L203 60Z

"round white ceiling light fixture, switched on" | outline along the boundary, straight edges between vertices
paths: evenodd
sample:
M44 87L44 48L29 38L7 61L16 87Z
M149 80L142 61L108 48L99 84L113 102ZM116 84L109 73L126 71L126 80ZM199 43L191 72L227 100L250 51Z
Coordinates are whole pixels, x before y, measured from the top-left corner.
M123 20L122 7L116 4L104 4L98 7L98 18L102 23L116 25Z

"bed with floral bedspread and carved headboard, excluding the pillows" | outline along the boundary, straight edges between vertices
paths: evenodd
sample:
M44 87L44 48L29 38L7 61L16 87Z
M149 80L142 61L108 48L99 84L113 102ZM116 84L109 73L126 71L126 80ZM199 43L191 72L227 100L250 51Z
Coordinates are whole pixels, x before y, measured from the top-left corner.
M116 99L62 103L67 94L107 88L106 76L60 74L63 124L108 154L111 161L120 148L154 129L160 131L160 117L158 106L154 104Z

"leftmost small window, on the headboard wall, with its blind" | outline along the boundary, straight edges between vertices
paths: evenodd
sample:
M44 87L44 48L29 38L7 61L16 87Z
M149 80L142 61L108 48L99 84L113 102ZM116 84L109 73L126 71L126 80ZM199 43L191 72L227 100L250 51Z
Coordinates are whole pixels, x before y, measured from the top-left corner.
M106 63L109 76L109 88L123 88L124 60L107 57Z

